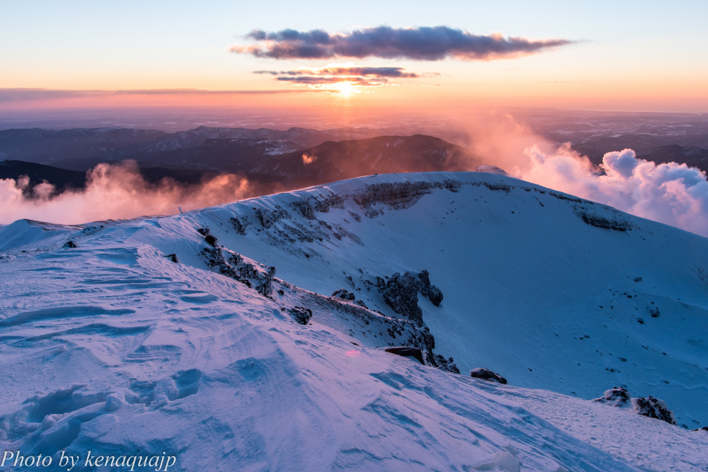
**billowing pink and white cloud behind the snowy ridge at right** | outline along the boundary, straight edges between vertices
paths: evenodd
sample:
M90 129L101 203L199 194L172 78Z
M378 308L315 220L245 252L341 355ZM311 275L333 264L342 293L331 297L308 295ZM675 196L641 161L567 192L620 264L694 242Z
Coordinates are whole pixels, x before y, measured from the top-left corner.
M569 143L554 146L510 115L469 125L475 153L513 177L708 237L708 180L700 169L638 159L632 149L608 152L595 166Z

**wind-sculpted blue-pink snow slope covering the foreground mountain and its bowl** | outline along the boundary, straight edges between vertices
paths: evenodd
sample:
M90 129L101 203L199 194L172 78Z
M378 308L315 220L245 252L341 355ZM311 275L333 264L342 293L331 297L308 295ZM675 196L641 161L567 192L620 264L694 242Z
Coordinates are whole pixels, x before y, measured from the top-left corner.
M707 248L486 173L17 221L0 228L0 450L166 451L184 471L708 470L705 432L583 400L623 384L708 423ZM222 275L244 267L251 287ZM419 297L427 327L375 287L423 269L444 295ZM382 349L427 360L430 333L462 375Z

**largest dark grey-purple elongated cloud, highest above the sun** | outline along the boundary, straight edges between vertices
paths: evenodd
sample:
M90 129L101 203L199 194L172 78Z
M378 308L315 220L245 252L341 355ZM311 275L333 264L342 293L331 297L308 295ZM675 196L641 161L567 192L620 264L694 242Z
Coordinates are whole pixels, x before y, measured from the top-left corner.
M504 38L501 34L474 35L447 26L391 28L379 26L351 33L329 34L324 30L276 33L253 30L246 39L255 45L235 45L232 52L272 59L331 59L335 57L381 57L439 61L491 60L520 57L552 47L572 44L564 39L530 40Z

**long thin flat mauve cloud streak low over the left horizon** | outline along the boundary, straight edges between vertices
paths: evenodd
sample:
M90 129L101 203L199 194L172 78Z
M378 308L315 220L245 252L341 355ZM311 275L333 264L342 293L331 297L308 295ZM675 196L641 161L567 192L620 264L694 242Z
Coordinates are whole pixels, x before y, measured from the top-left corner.
M237 94L307 93L312 90L202 90L199 88L153 88L145 90L58 90L52 88L0 88L0 103L103 98L111 96L212 96Z

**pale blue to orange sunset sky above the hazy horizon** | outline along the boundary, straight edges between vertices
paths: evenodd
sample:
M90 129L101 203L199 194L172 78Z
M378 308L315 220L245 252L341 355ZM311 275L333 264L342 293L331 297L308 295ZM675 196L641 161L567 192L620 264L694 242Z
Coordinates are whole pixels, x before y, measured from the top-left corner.
M708 112L706 1L1 0L0 9L0 112L341 103L438 113L475 106ZM379 27L401 38L419 34L407 50L375 44L364 57L346 55L356 38L379 41L372 33ZM433 37L426 28L436 27L462 35L467 46L496 41L513 51L447 45L442 56L424 57ZM320 30L338 45L321 57L278 56L273 45L285 44L283 30ZM404 76L350 74L342 84L326 75L331 64Z

